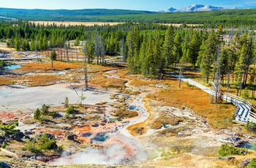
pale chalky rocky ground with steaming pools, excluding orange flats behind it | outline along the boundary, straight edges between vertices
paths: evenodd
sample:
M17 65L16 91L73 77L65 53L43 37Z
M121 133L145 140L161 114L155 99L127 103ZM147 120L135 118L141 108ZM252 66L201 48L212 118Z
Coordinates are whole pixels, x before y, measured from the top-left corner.
M116 70L103 75L124 78ZM236 160L219 158L222 144L254 144L255 138L244 134L241 126L215 130L187 107L176 108L146 98L148 93L170 85L135 86L129 83L129 77L125 80L128 82L122 89L90 85L88 91L83 90L83 81L1 86L1 123L18 121L16 129L20 131L10 137L2 132L0 143L8 145L1 148L0 160L10 167L237 167L255 155L248 150L249 154L236 156ZM82 93L86 99L78 105ZM76 110L70 118L65 118L66 97ZM34 120L34 111L42 104L50 104L50 111L59 115L45 116L41 122ZM121 117L116 110L121 114L131 110L128 114L135 117ZM29 139L45 133L56 139L56 150L45 151L37 159L34 153L21 150ZM58 150L61 146L63 149Z

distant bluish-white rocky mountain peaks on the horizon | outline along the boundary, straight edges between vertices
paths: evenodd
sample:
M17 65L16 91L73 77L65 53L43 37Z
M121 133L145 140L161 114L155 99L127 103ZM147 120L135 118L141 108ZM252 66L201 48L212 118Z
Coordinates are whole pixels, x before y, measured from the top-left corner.
M213 7L210 5L203 5L203 4L193 4L189 7L184 7L181 9L175 9L171 7L170 9L167 9L167 11L162 12L197 12L197 11L215 11L215 10L224 10L223 7ZM236 8L233 8L236 9Z

